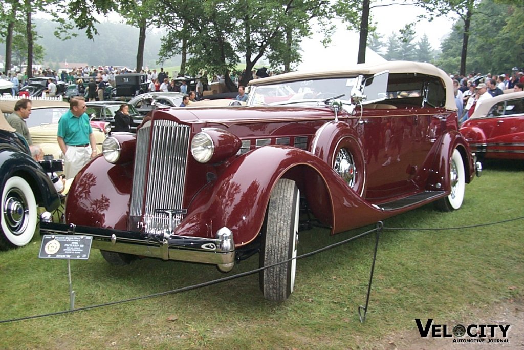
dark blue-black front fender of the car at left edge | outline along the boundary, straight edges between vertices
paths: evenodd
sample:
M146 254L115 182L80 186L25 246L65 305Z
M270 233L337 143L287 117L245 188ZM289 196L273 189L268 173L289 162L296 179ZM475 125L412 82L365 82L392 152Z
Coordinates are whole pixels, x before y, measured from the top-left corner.
M53 211L60 205L60 197L51 179L32 157L23 152L0 150L0 183L2 188L12 176L24 178L39 206Z

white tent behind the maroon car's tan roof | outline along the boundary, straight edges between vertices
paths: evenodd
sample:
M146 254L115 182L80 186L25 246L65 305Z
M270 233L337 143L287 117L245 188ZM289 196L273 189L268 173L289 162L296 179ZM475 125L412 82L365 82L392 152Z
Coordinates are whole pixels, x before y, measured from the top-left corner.
M297 70L332 70L345 69L357 63L358 33L338 29L331 38L328 47L322 45L322 37L314 34L312 38L302 40L302 62ZM365 63L387 61L372 49L366 49Z

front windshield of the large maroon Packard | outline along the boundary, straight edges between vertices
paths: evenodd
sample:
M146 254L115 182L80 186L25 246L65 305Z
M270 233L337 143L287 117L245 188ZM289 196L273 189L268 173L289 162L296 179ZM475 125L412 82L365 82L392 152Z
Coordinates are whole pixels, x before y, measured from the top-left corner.
M354 78L311 79L289 81L272 85L253 86L249 90L248 105L286 104L303 100L322 101L344 95L350 100Z

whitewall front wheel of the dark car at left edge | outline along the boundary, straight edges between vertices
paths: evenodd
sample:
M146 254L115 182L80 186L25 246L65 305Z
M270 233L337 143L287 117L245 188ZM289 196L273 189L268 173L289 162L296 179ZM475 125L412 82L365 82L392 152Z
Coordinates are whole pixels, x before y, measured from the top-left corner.
M2 235L0 249L27 245L35 235L37 204L25 179L12 176L2 190Z

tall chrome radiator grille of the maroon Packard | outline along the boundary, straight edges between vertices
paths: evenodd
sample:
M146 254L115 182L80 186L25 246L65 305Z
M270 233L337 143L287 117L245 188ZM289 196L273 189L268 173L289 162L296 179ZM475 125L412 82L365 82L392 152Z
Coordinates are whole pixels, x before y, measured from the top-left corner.
M147 122L137 132L129 212L144 216L146 231L169 226L155 209L182 209L190 133L190 126L169 120Z

